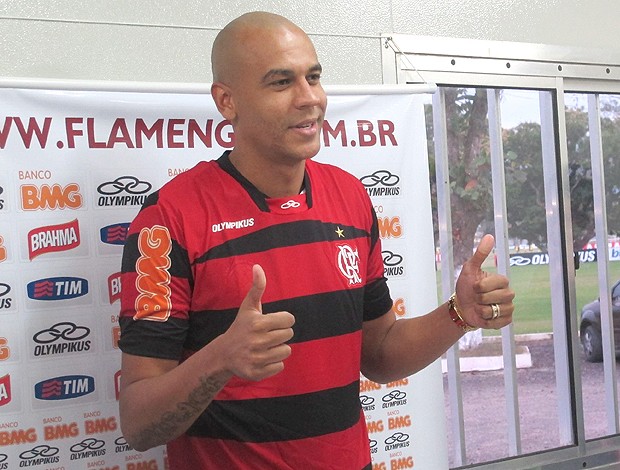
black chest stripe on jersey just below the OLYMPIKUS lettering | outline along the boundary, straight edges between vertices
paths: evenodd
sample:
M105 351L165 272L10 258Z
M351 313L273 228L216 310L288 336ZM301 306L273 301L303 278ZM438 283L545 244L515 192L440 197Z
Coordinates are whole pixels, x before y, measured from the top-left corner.
M232 256L259 253L274 248L305 245L323 241L338 240L336 229L344 230L346 238L367 238L369 233L348 225L321 222L320 220L300 220L266 227L256 232L229 240L221 245L214 246L204 255L196 258L196 263L203 263L210 259L228 258Z

